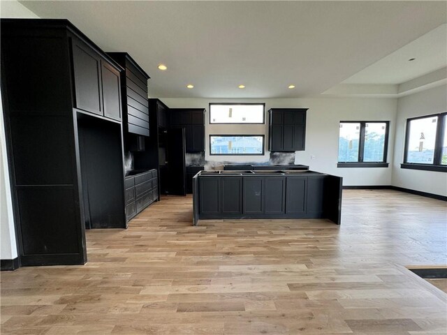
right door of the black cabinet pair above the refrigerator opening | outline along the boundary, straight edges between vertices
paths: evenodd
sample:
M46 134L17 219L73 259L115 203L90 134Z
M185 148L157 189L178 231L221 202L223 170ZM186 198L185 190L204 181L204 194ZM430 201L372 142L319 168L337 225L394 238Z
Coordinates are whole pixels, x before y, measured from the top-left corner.
M101 61L101 78L103 81L104 116L121 120L121 92L119 71Z

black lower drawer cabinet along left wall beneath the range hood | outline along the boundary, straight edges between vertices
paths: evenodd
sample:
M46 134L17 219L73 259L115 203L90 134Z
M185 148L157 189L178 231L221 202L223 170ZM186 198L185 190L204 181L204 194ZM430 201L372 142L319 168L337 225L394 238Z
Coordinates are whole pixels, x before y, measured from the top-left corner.
M127 221L158 200L158 173L155 169L126 177L124 184L126 185Z

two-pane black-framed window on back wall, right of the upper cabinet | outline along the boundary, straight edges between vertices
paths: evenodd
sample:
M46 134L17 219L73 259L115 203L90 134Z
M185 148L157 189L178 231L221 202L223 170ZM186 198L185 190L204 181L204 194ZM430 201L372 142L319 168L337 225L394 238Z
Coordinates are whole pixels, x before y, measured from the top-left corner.
M342 121L338 168L386 168L388 121Z

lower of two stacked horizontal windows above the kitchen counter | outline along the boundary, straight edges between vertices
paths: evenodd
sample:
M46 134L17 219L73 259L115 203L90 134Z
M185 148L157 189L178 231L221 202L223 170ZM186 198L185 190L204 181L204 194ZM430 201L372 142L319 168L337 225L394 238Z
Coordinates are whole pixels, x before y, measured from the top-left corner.
M210 135L210 155L261 156L264 135Z

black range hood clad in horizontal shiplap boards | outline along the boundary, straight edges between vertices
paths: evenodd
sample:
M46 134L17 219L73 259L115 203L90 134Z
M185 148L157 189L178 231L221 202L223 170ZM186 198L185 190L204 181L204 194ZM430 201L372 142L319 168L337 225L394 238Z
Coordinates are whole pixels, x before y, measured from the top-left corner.
M127 133L149 136L149 75L126 52L108 52L124 71L121 73L123 129Z

